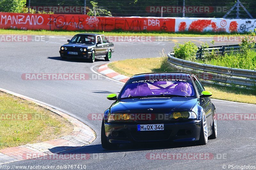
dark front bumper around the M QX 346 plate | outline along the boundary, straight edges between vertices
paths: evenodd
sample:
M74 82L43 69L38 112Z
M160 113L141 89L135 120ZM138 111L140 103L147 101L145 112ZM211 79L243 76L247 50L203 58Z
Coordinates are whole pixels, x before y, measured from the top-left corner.
M197 141L200 138L201 120L164 123L164 131L137 131L137 124L161 123L105 123L106 137L110 143L118 144L156 141L187 142Z

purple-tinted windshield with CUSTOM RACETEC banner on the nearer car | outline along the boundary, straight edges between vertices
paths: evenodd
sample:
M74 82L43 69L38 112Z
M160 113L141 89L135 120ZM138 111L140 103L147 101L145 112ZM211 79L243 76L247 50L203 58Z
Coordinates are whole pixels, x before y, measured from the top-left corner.
M186 79L155 79L133 78L127 82L120 92L120 98L135 96L172 96L196 97L190 78Z

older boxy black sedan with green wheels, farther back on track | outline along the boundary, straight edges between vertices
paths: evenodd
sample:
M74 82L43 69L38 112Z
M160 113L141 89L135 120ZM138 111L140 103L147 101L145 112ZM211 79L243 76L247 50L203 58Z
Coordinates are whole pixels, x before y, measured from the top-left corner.
M95 58L104 57L111 60L114 44L102 34L76 34L68 44L60 47L61 58L82 58L94 62Z

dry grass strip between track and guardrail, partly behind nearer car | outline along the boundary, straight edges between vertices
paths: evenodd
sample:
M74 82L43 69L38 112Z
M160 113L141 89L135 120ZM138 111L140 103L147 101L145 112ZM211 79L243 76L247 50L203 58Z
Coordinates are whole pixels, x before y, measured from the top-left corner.
M121 60L108 64L108 67L129 77L140 73L175 71L168 67L166 57ZM213 93L213 99L256 104L256 94L253 90L220 85L204 87Z

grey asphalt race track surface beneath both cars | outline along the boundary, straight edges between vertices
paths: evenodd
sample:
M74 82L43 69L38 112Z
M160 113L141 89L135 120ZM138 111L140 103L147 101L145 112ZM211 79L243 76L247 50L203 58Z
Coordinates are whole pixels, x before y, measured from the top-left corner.
M111 101L109 93L118 93L123 84L102 77L85 81L28 81L24 73L88 73L93 66L106 63L96 60L61 60L60 46L66 36L51 36L47 42L0 42L0 87L48 103L89 125L97 133L96 140L68 153L90 154L87 160L29 159L7 165L86 165L86 169L222 169L223 165L255 165L255 121L218 121L218 138L207 145L147 144L121 145L119 150L103 150L100 144L100 120L89 120L92 113L103 113ZM157 57L164 48L172 51L175 42L191 40L198 46L212 38L171 38L168 42L115 42L112 61L132 58ZM226 45L216 42L215 45ZM232 43L229 43L232 44ZM236 43L233 43L236 44ZM255 113L250 104L212 100L216 113ZM211 153L209 160L174 159L150 160L149 153ZM21 168L20 168L21 169Z

